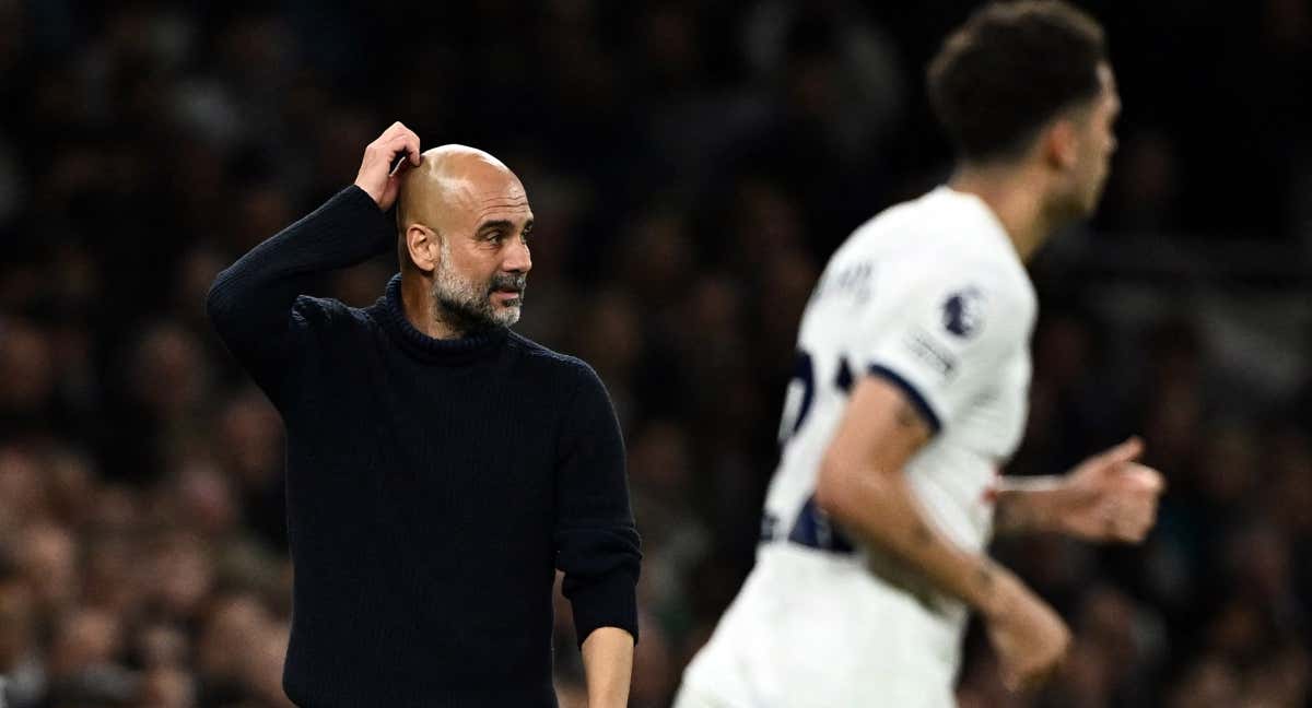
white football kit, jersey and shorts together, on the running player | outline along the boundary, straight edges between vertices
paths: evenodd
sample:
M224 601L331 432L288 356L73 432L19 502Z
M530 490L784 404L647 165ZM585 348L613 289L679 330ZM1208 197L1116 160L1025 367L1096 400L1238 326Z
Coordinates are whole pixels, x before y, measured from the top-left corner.
M892 382L935 434L905 467L926 517L983 551L1025 429L1036 300L1002 224L946 186L879 214L807 304L757 565L685 674L736 705L949 705L967 611L815 507L848 395Z

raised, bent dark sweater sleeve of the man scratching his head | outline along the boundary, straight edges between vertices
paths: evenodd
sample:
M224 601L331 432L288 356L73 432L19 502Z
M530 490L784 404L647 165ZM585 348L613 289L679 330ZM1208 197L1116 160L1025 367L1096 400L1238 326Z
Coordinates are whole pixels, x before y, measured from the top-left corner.
M349 186L323 206L251 249L210 287L206 311L232 355L269 399L281 392L295 362L304 321L293 304L323 271L384 252L395 231L378 205Z

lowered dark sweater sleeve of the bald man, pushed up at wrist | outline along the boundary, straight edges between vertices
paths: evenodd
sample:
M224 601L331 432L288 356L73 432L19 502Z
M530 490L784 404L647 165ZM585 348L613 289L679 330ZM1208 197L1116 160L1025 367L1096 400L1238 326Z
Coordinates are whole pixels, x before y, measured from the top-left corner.
M625 443L601 379L585 379L565 410L556 472L556 568L573 607L579 644L598 627L638 640L636 585L642 561L628 505Z

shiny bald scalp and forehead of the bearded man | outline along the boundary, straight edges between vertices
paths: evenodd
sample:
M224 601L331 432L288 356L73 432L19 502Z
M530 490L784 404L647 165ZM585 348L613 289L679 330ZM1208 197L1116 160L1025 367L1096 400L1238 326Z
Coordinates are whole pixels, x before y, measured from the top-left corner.
M527 202L520 178L501 160L467 146L441 146L425 151L420 165L403 176L396 231L420 223L450 233L471 216Z

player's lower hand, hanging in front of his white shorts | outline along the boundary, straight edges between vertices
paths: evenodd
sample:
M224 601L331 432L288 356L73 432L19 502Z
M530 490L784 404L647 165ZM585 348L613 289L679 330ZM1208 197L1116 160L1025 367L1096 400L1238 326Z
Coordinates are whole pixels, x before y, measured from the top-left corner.
M997 600L984 616L997 653L1002 684L1023 694L1042 686L1061 667L1071 649L1071 631L1046 602L1015 576L996 578Z

